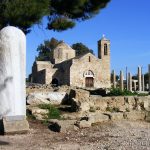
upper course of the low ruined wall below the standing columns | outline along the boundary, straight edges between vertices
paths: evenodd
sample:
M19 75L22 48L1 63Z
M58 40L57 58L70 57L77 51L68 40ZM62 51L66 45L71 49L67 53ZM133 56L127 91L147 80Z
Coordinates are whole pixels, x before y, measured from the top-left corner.
M90 107L96 110L107 111L116 109L118 111L150 111L150 96L116 96L116 97L89 97Z

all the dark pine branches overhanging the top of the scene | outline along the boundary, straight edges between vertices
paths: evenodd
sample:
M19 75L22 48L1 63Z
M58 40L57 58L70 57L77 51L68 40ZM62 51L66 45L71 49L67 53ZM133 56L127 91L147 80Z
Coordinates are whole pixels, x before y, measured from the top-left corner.
M0 29L7 25L29 33L47 16L47 29L63 31L94 17L110 0L1 0Z

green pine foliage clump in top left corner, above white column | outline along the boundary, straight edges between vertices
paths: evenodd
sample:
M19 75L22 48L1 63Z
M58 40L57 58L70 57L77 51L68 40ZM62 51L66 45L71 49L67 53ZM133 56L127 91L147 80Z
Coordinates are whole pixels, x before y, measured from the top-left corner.
M12 25L29 33L33 24L49 14L48 5L47 0L1 0L0 28Z

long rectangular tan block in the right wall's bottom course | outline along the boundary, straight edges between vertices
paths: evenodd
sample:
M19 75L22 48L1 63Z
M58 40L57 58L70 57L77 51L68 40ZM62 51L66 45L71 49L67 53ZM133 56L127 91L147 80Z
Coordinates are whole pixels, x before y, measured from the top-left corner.
M125 112L124 118L129 120L144 120L145 112L144 111Z

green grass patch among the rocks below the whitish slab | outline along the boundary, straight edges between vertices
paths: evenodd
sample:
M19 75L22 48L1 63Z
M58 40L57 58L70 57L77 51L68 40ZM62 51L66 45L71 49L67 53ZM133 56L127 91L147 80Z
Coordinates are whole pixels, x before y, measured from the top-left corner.
M38 106L41 109L47 109L48 114L46 119L60 119L60 111L51 104L40 104Z

